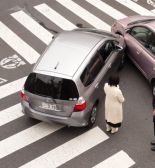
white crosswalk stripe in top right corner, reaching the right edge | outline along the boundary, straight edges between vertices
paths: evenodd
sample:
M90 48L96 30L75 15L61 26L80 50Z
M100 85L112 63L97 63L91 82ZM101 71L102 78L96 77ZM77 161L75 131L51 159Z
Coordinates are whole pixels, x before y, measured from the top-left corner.
M119 2L120 4L126 6L127 8L131 9L132 11L140 14L140 15L148 15L148 16L154 16L155 14L153 14L152 12L150 12L149 10L145 9L144 7L140 6L139 4L131 1L131 0L126 0L126 1L122 1L122 0L115 0L117 2Z

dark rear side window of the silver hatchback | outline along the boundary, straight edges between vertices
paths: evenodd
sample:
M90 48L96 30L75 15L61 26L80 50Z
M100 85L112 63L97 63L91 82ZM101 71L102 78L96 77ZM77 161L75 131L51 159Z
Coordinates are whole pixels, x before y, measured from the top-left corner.
M91 59L90 63L84 69L80 79L84 86L90 85L100 72L104 65L103 58L99 52Z

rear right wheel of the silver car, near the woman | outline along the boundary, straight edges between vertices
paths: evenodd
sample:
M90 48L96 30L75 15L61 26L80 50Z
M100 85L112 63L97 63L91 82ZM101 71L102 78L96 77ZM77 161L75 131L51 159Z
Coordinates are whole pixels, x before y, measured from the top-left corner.
M97 104L95 104L91 109L91 113L88 121L88 127L92 127L95 124L96 116L97 116L97 107L98 107Z

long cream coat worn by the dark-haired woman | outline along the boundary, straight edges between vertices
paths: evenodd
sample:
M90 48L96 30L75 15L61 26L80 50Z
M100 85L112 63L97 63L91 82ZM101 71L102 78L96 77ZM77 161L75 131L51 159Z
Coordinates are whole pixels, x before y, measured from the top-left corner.
M105 119L113 124L121 123L123 120L124 96L119 86L104 85L105 97Z

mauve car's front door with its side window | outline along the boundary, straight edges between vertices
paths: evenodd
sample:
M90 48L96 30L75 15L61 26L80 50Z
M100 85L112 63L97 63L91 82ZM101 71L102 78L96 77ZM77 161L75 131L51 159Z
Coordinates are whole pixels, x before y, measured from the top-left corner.
M153 33L143 26L133 27L125 35L128 55L146 78L152 73L154 64L153 53L150 52L153 46L149 42L150 37L153 37Z

